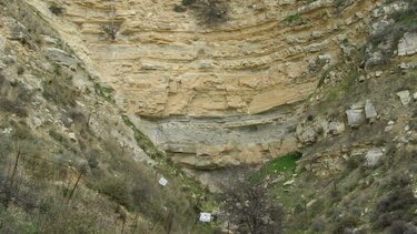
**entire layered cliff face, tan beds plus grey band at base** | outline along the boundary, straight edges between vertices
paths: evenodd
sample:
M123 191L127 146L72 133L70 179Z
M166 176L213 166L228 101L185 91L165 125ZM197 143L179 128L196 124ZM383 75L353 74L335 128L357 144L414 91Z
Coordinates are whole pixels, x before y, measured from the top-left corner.
M216 169L296 147L292 132L320 71L361 45L377 1L232 0L207 28L173 0L27 0L116 103L176 162ZM103 37L113 22L116 40ZM348 42L347 42L348 41Z

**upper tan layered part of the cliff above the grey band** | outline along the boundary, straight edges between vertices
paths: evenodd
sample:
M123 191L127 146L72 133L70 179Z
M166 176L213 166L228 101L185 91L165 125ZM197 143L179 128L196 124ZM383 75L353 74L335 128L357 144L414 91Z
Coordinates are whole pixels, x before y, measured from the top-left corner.
M50 14L44 3L31 2ZM100 29L111 20L110 1L62 2L66 13L57 28L80 35L85 42L77 47L86 50L93 68L117 90L118 104L146 116L254 114L304 100L317 84L315 75L306 75L308 61L318 55L337 61L336 28L356 33L351 26L322 28L311 21L298 32L280 24L289 12L326 12L331 8L327 0L286 8L267 1L260 12L231 1L236 12L216 30L196 24L189 12L173 12L177 1L115 1L120 30L109 43ZM357 12L370 11L370 7L357 6ZM314 31L319 37L312 38ZM285 40L282 34L295 40Z

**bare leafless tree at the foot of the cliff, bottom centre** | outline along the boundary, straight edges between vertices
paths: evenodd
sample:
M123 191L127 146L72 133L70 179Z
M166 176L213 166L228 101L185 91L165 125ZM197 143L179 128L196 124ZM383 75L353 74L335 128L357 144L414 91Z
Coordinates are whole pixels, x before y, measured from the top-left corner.
M230 222L251 234L282 233L284 208L267 194L262 183L235 182L225 192L225 211Z

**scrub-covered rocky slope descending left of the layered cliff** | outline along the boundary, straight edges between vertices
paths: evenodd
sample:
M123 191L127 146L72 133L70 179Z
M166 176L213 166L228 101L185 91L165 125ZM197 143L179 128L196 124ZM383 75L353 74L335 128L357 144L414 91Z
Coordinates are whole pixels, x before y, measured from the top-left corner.
M0 233L212 233L111 89L24 1L0 7Z

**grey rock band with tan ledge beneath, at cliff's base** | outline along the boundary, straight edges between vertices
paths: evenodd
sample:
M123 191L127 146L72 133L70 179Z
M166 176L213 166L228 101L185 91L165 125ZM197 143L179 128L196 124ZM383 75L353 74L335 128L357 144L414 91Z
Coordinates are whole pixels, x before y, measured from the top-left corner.
M296 149L291 126L297 119L285 110L216 121L178 116L160 120L153 126L145 124L148 126L145 132L176 162L188 167L256 164Z

